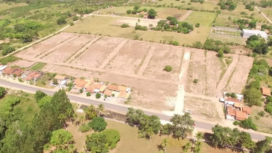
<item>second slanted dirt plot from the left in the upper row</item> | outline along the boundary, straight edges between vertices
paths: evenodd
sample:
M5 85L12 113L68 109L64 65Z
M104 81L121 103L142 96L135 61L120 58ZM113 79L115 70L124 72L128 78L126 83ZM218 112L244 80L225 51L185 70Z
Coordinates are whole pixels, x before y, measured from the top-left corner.
M75 54L80 48L94 38L93 35L80 35L78 38L54 50L51 54L44 56L42 59L50 62L63 62L72 54Z

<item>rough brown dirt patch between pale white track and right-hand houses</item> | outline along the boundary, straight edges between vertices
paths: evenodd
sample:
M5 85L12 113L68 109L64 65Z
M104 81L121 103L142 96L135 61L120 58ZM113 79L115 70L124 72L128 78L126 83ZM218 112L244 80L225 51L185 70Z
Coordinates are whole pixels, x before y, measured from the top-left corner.
M205 119L221 119L215 103L208 99L185 96L184 110L190 111L194 115L202 116Z

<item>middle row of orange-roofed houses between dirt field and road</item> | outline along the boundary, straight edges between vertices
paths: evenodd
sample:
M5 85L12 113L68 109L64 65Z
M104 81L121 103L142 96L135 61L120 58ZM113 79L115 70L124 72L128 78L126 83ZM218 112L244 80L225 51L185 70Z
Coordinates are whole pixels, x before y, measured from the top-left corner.
M74 89L82 89L84 92L92 94L102 94L117 98L128 99L131 94L131 89L122 85L108 84L104 82L95 82L94 79L74 79Z

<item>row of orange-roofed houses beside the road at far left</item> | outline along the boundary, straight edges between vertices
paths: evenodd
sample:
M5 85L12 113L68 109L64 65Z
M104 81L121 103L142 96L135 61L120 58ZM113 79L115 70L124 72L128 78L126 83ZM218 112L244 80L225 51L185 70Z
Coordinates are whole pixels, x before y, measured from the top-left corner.
M8 68L8 66L0 65L0 73L10 75L12 77L22 78L27 81L33 80L37 81L37 79L43 76L43 73L37 71L28 71L23 70L21 68Z

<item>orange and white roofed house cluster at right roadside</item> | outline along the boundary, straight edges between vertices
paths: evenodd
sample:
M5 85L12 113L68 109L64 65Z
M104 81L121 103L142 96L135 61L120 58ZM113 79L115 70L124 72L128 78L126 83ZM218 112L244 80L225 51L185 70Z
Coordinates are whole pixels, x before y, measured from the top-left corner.
M226 119L228 120L245 120L251 115L251 108L243 106L241 103L243 95L236 94L236 98L231 98L225 96L220 98L221 102L224 102L224 107L226 110Z

